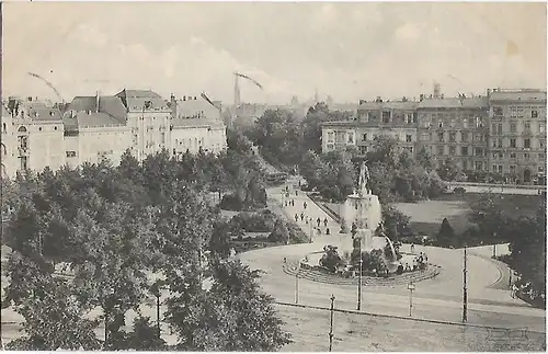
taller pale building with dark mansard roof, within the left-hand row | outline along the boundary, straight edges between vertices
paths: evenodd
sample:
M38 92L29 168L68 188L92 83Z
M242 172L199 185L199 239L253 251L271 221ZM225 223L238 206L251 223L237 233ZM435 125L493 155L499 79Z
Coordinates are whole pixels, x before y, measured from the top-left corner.
M168 101L151 90L123 90L115 96L122 99L126 107L132 152L139 161L170 148L171 109Z

